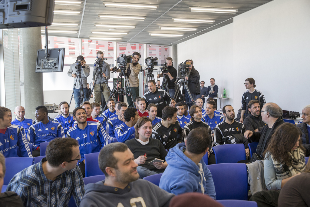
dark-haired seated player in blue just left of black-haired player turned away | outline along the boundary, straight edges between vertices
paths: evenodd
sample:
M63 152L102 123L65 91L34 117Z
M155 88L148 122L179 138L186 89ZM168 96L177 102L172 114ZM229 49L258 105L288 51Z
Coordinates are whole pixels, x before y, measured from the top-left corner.
M125 122L124 120L124 111L127 109L127 104L124 102L120 102L117 105L117 116L109 117L107 124L107 132L110 137L115 138L115 128Z

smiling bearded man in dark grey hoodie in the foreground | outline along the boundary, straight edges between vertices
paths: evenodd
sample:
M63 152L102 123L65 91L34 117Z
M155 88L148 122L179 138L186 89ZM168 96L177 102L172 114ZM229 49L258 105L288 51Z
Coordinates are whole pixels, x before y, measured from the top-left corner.
M139 179L138 164L124 143L112 143L102 148L98 162L105 180L86 185L80 207L167 207L175 196L151 182Z

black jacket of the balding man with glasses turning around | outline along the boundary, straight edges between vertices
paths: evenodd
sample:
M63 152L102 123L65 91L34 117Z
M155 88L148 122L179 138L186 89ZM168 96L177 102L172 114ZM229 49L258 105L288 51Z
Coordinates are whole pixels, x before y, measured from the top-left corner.
M285 122L283 121L282 117L278 118L277 121L273 124L271 131L268 134L267 129L268 129L268 124L264 126L264 128L259 131L259 132L253 132L253 136L249 137L251 142L258 142L258 149L256 150L256 153L263 158L263 152L266 149L269 140L271 138L271 135L274 133L274 131L281 125L284 124Z

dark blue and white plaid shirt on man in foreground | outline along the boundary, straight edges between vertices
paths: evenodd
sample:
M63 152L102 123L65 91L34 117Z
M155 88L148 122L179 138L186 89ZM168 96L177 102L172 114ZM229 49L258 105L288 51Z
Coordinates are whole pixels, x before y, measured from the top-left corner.
M47 179L41 162L17 173L7 186L22 199L24 206L68 206L73 196L77 206L85 193L81 170L76 166L58 175L56 179Z

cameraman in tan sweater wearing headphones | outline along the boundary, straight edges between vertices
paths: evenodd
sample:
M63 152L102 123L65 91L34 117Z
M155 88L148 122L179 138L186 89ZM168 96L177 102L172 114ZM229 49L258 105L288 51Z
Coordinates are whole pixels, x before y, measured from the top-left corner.
M126 71L128 76L128 81L130 84L130 89L132 92L132 97L137 97L139 96L139 72L141 70L141 65L138 63L140 60L140 53L139 52L134 52L132 53L132 63L127 63L126 65ZM121 72L120 69L117 70L117 72ZM127 87L127 86L126 86ZM128 88L126 88L126 92L128 91ZM128 96L126 94L127 102L128 102L128 108L130 107L135 107L134 103L131 100L131 96Z

